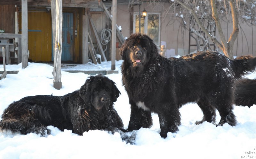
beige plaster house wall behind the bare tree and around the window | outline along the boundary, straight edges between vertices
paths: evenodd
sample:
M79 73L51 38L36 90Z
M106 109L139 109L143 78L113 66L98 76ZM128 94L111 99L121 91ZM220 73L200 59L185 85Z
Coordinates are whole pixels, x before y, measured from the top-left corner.
M180 26L180 19L177 17L173 17L171 14L166 15L166 10L168 9L168 3L159 4L156 6L150 4L141 5L141 11L144 8L147 12L160 12L161 13L161 41L166 42L166 49L174 49L176 55L184 55L188 53L188 39L189 33L188 30L185 30ZM138 12L138 6L134 6L134 12ZM171 21L172 18L172 22ZM174 21L174 22L173 22ZM124 37L130 36L130 9L127 5L117 5L117 25L122 26L122 33ZM253 54L256 56L256 27L248 26L246 24L240 23L243 31L239 30L238 35L238 43L237 40L234 45L233 54L234 56ZM222 29L224 35L228 39L228 36L232 32L232 23L228 24L222 22ZM242 35L243 34L243 35ZM253 36L252 36L253 34ZM245 39L247 38L247 42ZM216 31L216 37L219 39L218 31ZM192 39L192 42L194 40ZM212 43L212 42L211 42ZM191 48L191 50L195 50L195 48ZM184 53L185 51L185 53ZM221 50L219 50L221 51ZM242 54L243 53L243 54Z

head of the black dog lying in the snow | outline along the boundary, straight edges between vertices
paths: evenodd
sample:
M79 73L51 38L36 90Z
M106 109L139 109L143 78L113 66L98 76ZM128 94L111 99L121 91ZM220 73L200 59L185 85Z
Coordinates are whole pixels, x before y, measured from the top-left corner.
M90 76L79 90L86 105L96 110L108 109L120 95L115 83L105 76Z

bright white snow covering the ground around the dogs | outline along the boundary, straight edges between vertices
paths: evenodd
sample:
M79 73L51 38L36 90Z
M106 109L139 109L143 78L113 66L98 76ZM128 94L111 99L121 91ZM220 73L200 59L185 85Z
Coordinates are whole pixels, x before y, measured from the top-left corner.
M107 76L116 82L122 93L115 103L115 108L124 122L124 128L127 128L130 105L121 82L121 63L122 61L116 63L119 74ZM102 62L97 66L78 65L74 69L109 70L110 67L109 62ZM52 87L52 66L29 63L26 69L21 69L21 64L7 65L6 69L19 70L19 74L7 75L5 79L0 80L0 114L10 103L25 96L64 95L75 91L89 76L84 73L62 71L62 89L56 90ZM3 70L2 65L0 70ZM256 74L247 77L256 78ZM235 106L234 113L238 121L235 127L228 124L216 127L207 122L195 125L195 122L203 117L196 104L186 104L180 112L182 121L178 132L169 132L168 137L162 139L159 135L158 116L152 114L154 126L151 129L141 128L137 131L135 145L125 144L119 133L112 135L99 130L84 132L83 136L78 136L71 131L62 132L49 126L52 134L47 138L34 133L20 135L0 132L0 159L256 158L256 106L251 108ZM218 120L220 120L219 115Z

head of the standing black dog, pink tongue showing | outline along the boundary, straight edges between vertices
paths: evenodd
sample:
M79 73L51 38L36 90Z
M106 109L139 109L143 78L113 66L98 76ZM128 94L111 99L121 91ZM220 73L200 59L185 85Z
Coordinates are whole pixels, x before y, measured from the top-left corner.
M149 60L155 60L159 56L153 40L140 33L132 34L119 51L122 59L133 68L144 68Z

